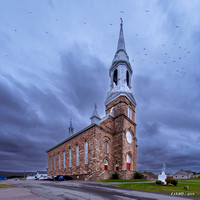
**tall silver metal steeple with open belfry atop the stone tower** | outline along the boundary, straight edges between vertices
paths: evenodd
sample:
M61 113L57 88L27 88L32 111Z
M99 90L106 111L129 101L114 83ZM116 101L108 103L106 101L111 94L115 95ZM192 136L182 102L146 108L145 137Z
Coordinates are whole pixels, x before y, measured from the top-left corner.
M106 105L119 96L126 96L134 106L136 105L131 92L132 73L132 67L129 62L128 54L126 53L123 21L121 19L117 51L109 69L110 91L106 97Z

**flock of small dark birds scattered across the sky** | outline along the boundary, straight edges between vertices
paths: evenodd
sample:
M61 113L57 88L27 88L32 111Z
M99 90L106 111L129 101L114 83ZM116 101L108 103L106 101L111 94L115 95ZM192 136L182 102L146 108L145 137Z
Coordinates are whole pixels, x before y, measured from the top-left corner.
M124 13L124 11L122 11L122 10L120 10L119 12L122 13L122 14ZM150 10L144 10L144 12L148 13L148 12L150 12ZM28 13L32 14L31 11L29 11ZM58 19L56 19L56 21L58 21ZM84 25L87 24L86 22L83 22L83 23L84 23ZM109 25L112 26L113 24L109 24ZM175 26L175 28L177 28L177 29L179 27L180 26L178 26L178 25ZM14 31L17 32L17 29L14 29ZM45 31L45 33L48 34L49 32ZM139 37L139 34L135 33L135 36ZM183 50L184 51L184 55L179 56L176 59L174 57L171 59L170 55L167 52L165 52L164 53L164 58L161 59L161 60L164 60L164 61L159 61L159 62L157 61L155 63L156 65L161 65L161 69L164 69L164 66L167 65L168 63L173 63L173 64L178 63L179 61L183 60L188 54L191 53L191 51L187 50L186 48L183 48L182 46L177 45L176 43L173 43L173 45L178 47L179 50ZM166 46L167 46L166 44L162 44L163 48L165 48ZM148 54L149 53L147 52L147 48L145 48L145 47L143 48L142 52L141 51L140 52L139 51L136 52L136 55L143 55L145 57L147 57ZM134 55L134 57L136 57L136 55ZM8 54L6 54L6 56L8 56ZM145 61L145 58L143 58L142 61ZM134 59L132 59L132 62L134 62ZM185 75L186 73L184 72L184 69L185 69L184 67L179 67L178 69L176 69L176 72L180 73L182 75Z

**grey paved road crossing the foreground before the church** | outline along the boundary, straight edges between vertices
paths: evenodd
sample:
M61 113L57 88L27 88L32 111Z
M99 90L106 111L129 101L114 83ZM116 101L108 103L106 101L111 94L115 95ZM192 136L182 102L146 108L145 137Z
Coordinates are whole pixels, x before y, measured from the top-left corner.
M31 191L32 199L49 200L183 200L195 199L177 197L152 192L135 191L116 188L113 183L97 183L85 181L45 182L45 181L18 181L7 182L17 189ZM16 189L16 188L14 188ZM5 190L12 190L5 189ZM17 195L17 194L16 194ZM1 199L0 190L0 199ZM20 199L20 198L19 198ZM9 198L7 198L9 200Z

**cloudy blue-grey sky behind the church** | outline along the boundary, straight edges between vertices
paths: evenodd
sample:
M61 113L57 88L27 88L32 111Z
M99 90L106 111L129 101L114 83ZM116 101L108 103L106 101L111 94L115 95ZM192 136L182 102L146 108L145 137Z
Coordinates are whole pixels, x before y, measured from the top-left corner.
M1 0L0 170L45 170L46 150L101 117L124 21L138 170L200 171L200 2Z

